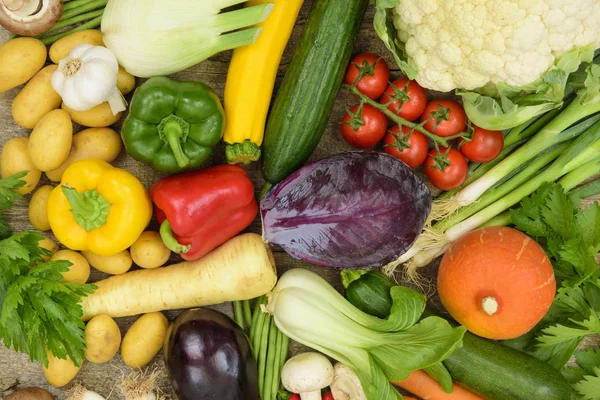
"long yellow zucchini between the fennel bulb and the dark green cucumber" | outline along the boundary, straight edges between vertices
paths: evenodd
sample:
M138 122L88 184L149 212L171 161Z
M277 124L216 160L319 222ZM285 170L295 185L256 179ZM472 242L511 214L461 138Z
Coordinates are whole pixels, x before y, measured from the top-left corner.
M227 125L223 140L230 164L248 164L260 158L265 122L275 85L277 69L292 34L304 0L249 0L246 7L274 3L253 44L233 51L224 107Z

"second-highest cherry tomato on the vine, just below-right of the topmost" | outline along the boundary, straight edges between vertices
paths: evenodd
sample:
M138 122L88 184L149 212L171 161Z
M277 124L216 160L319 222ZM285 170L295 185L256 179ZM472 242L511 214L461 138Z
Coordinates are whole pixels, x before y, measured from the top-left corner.
M416 121L419 115L423 114L423 110L425 110L425 106L427 105L427 93L425 93L425 89L416 81L411 81L408 78L396 79L387 87L383 96L379 99L379 103L387 104L392 101L392 96L396 93L396 89L403 91L406 84L408 84L408 88L406 89L406 96L408 98L402 103L400 110L398 110L398 100L391 103L388 106L388 110L407 121Z

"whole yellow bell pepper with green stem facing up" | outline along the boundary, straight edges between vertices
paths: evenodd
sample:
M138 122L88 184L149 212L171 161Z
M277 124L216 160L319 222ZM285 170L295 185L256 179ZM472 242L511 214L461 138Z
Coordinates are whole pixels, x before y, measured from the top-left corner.
M111 256L130 247L152 218L144 185L102 160L83 160L65 171L48 199L48 222L69 249Z

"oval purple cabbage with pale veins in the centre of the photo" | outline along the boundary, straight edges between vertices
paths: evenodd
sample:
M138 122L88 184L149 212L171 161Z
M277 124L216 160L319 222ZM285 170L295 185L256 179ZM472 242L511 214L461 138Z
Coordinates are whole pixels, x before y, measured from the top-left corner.
M378 268L421 233L431 193L402 161L349 152L296 171L260 209L264 240L291 256L334 268Z

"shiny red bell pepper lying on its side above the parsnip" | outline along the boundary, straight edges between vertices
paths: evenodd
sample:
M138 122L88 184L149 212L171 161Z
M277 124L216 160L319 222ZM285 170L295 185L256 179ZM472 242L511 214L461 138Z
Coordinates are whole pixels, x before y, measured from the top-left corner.
M168 176L150 189L165 245L197 260L248 227L258 214L254 186L238 165Z

